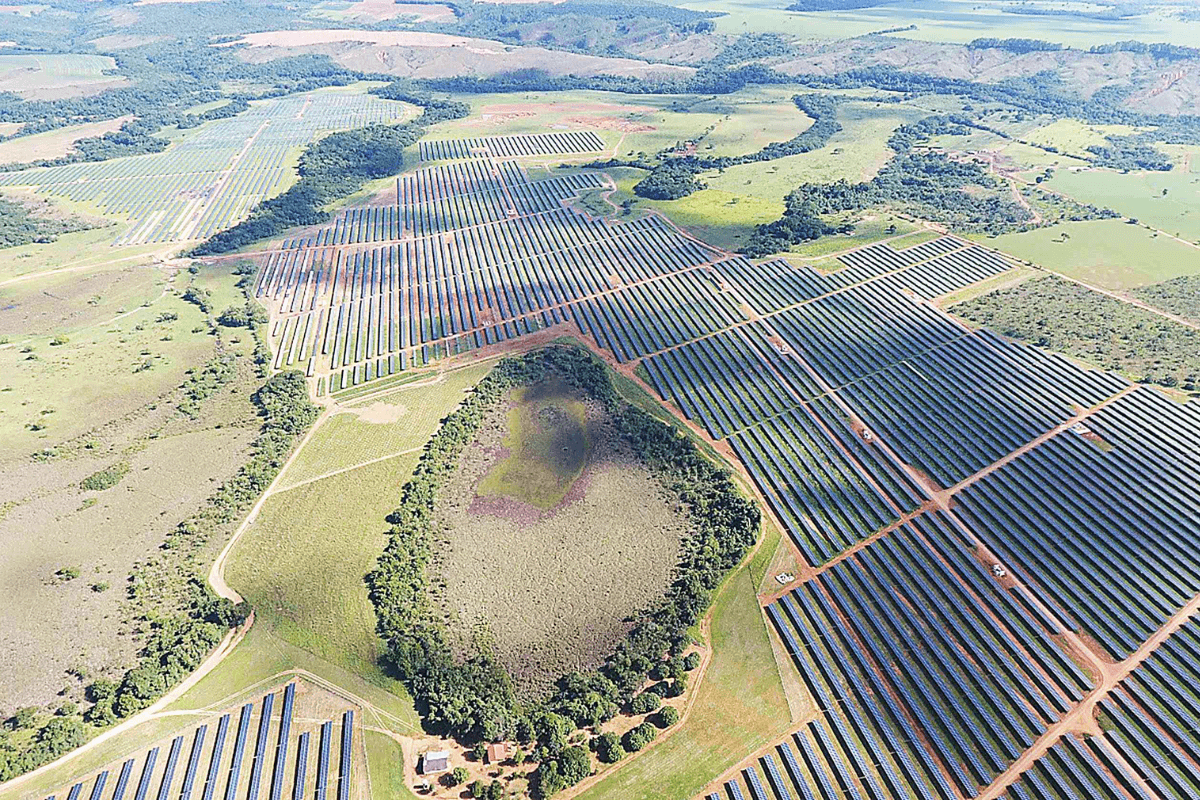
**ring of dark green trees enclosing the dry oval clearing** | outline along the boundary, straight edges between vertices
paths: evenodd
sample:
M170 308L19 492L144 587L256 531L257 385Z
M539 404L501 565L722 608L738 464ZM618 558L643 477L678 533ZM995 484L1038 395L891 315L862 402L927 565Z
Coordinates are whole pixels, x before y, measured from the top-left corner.
M490 409L514 387L548 377L604 405L618 434L688 510L692 533L661 600L635 615L629 636L604 664L564 675L552 697L530 704L516 699L508 673L485 642L460 657L451 652L430 589L438 492ZM688 628L754 545L760 512L690 439L625 403L594 356L577 347L550 345L500 361L443 420L388 519L388 545L366 577L384 660L416 699L430 729L463 741L515 738L532 744L540 762L534 790L548 796L587 775L566 746L575 729L616 716L648 676L665 679L664 692L672 686L683 691L686 664L679 656L690 642Z

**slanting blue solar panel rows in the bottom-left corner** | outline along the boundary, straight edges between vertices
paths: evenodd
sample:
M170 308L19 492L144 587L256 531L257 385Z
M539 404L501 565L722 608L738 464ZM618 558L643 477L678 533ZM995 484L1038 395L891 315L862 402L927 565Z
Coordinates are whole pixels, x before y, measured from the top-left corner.
M224 796L229 800L256 800L265 794L270 800L290 796L302 800L308 796L306 777L311 760L308 739L311 729L295 730L296 684L288 684L282 692L283 708L275 715L275 693L266 694L257 704L246 703L238 712L223 714L216 722L216 733L210 739L211 723L197 727L190 735L180 734L170 740L166 762L160 758L160 748L150 748L140 759L130 758L121 764L115 782L109 781L109 770L103 770L89 781L79 781L67 789L67 800L79 800L90 783L90 800L127 800L134 768L140 760L132 800L192 800L199 796L211 800ZM256 721L257 716L257 721ZM230 724L236 724L232 748L226 748ZM350 768L354 762L354 712L347 711L340 722L340 741L336 759L331 757L329 742L334 736L334 722L324 722L320 759L317 765L317 798L323 798L329 782L336 781L337 800L359 798L352 784ZM293 739L296 746L293 750ZM210 744L211 742L211 744ZM248 745L252 750L247 750ZM186 753L186 756L185 756ZM247 763L247 753L250 763ZM295 753L289 756L289 753ZM158 768L162 769L158 769ZM182 766L182 769L180 769ZM332 772L332 775L331 775ZM268 786L264 786L264 781ZM54 800L50 795L48 800ZM365 800L360 798L360 800Z

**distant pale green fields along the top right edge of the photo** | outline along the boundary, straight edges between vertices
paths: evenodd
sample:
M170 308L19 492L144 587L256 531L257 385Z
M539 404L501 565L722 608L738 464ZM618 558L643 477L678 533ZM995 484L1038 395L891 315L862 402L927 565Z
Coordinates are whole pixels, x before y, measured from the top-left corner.
M722 34L779 32L804 38L845 38L916 24L917 30L895 34L930 42L970 42L979 36L1043 38L1072 47L1091 47L1120 40L1193 44L1200 41L1200 23L1186 23L1163 13L1118 20L1084 17L1034 17L1004 13L1006 0L901 0L854 11L796 13L787 2L764 0L698 0L685 4L698 11L727 11L715 19ZM1048 4L1038 2L1045 7ZM1061 7L1061 6L1060 6Z

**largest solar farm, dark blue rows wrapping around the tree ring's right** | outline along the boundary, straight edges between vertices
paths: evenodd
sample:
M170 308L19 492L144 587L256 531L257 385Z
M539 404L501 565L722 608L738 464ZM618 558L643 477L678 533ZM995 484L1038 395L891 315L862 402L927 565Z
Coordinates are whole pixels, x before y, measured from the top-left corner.
M761 600L820 711L704 798L1200 796L1195 405L942 311L1016 269L983 246L752 263L576 209L614 187L523 161L559 146L427 143L395 200L264 254L275 366L358 396L558 331L736 458L800 565Z

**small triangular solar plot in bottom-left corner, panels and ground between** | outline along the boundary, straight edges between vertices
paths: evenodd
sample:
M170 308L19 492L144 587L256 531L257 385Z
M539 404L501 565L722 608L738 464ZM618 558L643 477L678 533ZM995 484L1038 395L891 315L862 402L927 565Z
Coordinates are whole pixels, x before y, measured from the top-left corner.
M358 800L368 795L354 710L317 721L296 688L215 715L47 800ZM276 708L278 705L278 708ZM361 727L361 726L360 726Z

